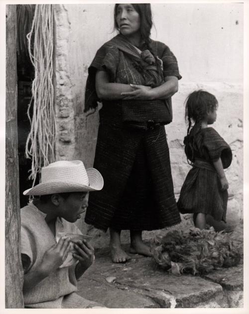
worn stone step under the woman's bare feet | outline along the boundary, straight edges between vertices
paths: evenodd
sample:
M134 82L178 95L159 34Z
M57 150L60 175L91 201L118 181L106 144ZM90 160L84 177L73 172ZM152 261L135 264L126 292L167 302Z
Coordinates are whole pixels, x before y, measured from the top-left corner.
M94 264L78 282L78 293L108 308L243 307L242 263L202 278L175 276L159 269L150 257L130 256L130 261L115 264L109 249L97 250ZM115 279L108 282L111 277Z

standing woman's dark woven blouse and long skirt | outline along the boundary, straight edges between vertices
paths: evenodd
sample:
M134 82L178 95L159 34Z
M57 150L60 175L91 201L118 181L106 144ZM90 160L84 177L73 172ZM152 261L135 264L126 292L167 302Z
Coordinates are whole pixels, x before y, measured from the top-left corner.
M177 61L169 48L151 41L156 56L162 60L162 75L181 78ZM147 47L140 47L140 50ZM86 87L85 110L96 99L95 74L108 72L111 82L145 85L136 50L124 36L117 35L97 52L90 68ZM149 79L159 79L153 67L147 67ZM160 82L155 82L159 84ZM171 100L169 99L171 102ZM163 103L161 113L154 105ZM164 125L147 128L143 120L157 120L167 110L164 101L103 101L94 167L104 178L104 188L91 192L85 222L107 230L154 230L181 221L176 206L169 150ZM146 109L147 108L147 109ZM136 112L133 112L135 109ZM145 110L146 109L146 110ZM135 118L134 118L135 116ZM125 120L134 120L134 127ZM148 122L148 121L147 121ZM164 123L165 124L165 123Z

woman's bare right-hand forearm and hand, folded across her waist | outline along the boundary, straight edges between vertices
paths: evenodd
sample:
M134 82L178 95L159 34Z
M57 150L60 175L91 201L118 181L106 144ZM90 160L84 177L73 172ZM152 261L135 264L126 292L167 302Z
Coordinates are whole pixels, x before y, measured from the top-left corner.
M175 76L167 76L164 83L158 87L150 88L143 85L130 84L133 92L123 92L124 99L154 100L167 99L178 91L178 79Z

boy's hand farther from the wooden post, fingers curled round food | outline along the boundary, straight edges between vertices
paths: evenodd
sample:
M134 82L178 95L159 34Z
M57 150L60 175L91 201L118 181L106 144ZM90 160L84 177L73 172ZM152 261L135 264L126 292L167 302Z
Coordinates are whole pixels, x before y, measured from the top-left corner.
M73 253L73 256L79 260L84 271L87 270L93 264L95 258L93 246L86 240L78 240L74 244L74 248L77 253Z

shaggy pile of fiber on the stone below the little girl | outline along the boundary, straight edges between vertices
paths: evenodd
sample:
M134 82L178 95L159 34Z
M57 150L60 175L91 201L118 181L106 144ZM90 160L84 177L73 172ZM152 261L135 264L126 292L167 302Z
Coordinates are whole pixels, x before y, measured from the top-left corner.
M213 228L173 230L155 242L154 260L172 274L204 275L240 262L233 234L216 232Z

